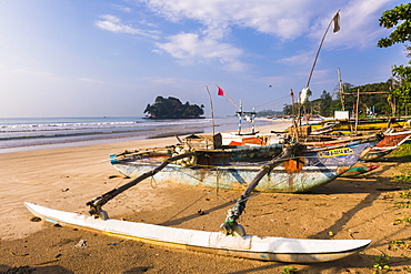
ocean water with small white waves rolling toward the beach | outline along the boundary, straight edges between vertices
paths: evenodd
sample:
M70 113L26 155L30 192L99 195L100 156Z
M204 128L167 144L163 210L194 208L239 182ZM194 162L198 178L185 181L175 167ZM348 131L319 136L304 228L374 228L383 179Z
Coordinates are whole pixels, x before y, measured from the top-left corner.
M141 116L100 118L0 118L0 153L143 140L172 135L235 131L235 116L150 120ZM257 125L270 124L255 120ZM250 129L242 121L244 131Z

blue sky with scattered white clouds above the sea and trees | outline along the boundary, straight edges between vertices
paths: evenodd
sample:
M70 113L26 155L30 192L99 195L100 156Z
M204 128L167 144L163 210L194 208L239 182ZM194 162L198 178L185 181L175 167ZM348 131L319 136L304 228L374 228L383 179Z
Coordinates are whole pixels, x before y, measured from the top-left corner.
M377 47L393 0L0 0L0 116L142 116L157 95L282 110L305 87L384 82L404 47Z

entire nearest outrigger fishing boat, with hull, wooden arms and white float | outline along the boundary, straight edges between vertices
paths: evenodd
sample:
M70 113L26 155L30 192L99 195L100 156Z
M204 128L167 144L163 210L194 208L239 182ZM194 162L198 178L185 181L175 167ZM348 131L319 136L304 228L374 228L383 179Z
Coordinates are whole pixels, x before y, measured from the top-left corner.
M339 12L332 21L339 21ZM360 252L371 241L247 235L237 221L244 212L253 191L305 192L319 187L354 164L361 153L375 142L377 140L363 139L322 148L308 148L298 142L258 148L224 148L219 134L200 142L194 136L173 146L126 151L112 155L111 163L121 173L137 177L89 201L87 205L90 207L90 215L28 202L24 204L34 215L52 223L96 230L151 244L262 261L329 262ZM171 180L193 185L244 190L235 205L228 211L219 232L109 219L102 209L106 203L153 176L158 182Z

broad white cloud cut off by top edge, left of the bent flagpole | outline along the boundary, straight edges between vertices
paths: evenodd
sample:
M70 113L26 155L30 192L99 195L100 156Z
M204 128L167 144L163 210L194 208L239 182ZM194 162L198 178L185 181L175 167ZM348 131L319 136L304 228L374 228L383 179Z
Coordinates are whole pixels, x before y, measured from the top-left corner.
M153 11L170 21L190 19L207 28L240 26L262 33L291 39L307 30L309 18L305 11L312 6L307 0L142 0ZM317 1L318 3L318 1Z

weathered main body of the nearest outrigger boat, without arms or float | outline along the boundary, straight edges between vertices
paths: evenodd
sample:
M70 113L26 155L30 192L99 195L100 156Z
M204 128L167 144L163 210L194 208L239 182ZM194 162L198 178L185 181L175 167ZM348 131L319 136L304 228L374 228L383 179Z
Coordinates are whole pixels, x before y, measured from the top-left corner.
M217 134L219 135L219 134ZM215 138L214 138L215 139ZM220 135L221 139L221 135ZM255 191L301 193L332 182L362 156L377 138L362 138L345 143L310 146L271 144L262 146L213 146L212 140L192 136L181 145L163 149L124 151L112 154L111 164L124 176L148 173L173 155L191 152L190 156L173 161L158 172L156 182L176 182L224 190L244 190L261 166L292 150L290 156L264 175Z

